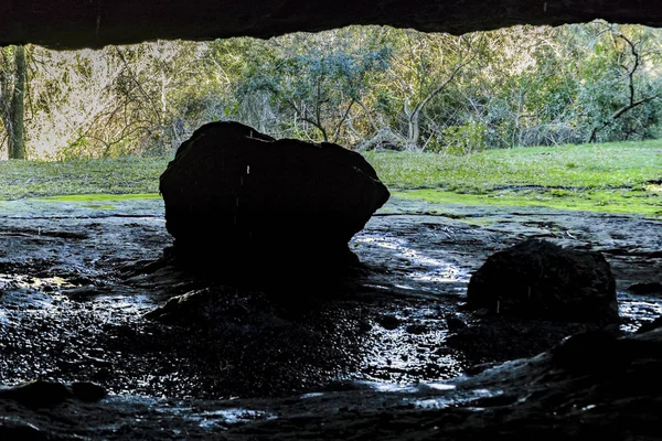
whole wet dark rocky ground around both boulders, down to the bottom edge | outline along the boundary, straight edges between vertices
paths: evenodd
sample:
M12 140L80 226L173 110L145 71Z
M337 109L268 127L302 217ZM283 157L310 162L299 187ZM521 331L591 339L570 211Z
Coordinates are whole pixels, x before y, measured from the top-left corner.
M637 333L662 313L660 220L392 200L363 268L264 287L168 266L162 213L0 205L0 384L50 381L0 394L1 439L662 438L661 336ZM530 237L605 254L620 325L467 311L471 272ZM108 395L49 388L76 381Z

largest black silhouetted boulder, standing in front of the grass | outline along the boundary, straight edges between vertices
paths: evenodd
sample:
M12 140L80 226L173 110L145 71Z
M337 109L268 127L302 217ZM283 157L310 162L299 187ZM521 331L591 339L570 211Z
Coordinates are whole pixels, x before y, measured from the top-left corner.
M180 261L299 267L353 260L349 240L389 197L359 153L213 122L160 179Z

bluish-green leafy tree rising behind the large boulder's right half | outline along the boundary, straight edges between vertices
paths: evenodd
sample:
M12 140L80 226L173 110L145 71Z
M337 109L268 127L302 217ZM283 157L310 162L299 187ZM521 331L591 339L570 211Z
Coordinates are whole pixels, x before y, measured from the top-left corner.
M387 67L391 55L376 34L364 36L350 28L271 40L270 56L253 62L239 92L243 97L267 93L293 136L348 139L354 109L366 109L371 79Z

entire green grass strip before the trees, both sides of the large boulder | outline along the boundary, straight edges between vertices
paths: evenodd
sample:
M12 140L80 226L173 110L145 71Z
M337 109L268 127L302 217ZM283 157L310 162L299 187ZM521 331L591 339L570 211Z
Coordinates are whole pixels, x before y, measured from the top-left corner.
M364 155L398 197L662 216L662 141L490 150L468 157ZM168 159L153 158L2 161L0 198L158 197L167 164Z

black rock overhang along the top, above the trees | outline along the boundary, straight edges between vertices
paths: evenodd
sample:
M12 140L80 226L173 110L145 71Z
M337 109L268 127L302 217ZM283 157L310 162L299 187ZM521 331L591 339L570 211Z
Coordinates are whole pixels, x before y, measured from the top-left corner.
M650 0L9 0L0 45L100 47L156 39L269 37L349 24L388 24L461 34L513 24L605 19L662 25Z

